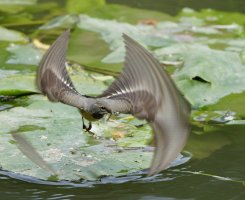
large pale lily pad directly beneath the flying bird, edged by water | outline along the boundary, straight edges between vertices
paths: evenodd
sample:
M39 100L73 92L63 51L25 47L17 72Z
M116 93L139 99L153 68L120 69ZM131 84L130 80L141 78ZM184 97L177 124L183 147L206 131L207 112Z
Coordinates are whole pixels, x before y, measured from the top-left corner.
M127 125L115 121L94 123L92 131L100 135L100 139L95 139L83 132L77 109L50 103L39 95L30 97L29 102L26 107L0 112L2 169L44 180L51 176L22 155L8 133L24 134L56 171L58 180L97 180L102 176L122 176L149 167L152 152L142 148L124 149L122 144L119 147L115 140L108 138L109 134L113 135L113 127L121 127L127 132L127 128L122 128ZM130 134L135 146L136 143L138 147L146 145L148 140L142 138L142 134L149 135L149 129L146 130L136 130L140 139L136 134ZM173 165L186 162L186 159L180 156Z

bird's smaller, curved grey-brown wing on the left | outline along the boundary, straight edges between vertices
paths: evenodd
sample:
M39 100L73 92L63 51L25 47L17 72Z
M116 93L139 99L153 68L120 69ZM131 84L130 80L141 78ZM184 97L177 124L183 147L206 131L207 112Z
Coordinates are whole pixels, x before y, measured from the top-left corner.
M43 56L37 72L37 87L50 101L84 108L86 97L80 95L66 70L66 51L70 30L62 33Z

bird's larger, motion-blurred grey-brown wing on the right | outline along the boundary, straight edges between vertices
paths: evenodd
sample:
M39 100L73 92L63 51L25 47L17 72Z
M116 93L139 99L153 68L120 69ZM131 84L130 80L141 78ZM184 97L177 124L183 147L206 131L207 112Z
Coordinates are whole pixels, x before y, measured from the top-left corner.
M123 35L126 57L122 74L101 97L125 102L125 109L153 128L156 149L149 175L160 172L178 156L189 133L190 107L159 62L139 43ZM111 103L113 111L121 105ZM129 106L130 105L130 106Z

